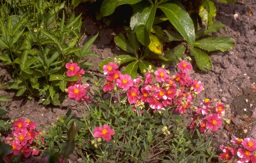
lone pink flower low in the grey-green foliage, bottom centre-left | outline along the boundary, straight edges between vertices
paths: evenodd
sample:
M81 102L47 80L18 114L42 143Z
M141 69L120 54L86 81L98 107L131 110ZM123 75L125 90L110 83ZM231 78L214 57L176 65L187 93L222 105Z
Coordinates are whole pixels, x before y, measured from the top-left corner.
M110 129L110 126L104 125L103 127L94 128L94 137L95 138L103 138L106 141L111 139L111 135L115 135L113 129Z

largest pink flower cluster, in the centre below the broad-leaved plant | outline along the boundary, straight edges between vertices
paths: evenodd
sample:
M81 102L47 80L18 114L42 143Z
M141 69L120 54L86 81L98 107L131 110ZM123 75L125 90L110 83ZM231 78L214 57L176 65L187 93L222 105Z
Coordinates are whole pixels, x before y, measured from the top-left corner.
M122 75L118 65L110 62L103 66L103 72L107 75L106 85L103 91L111 91L113 88L120 88L123 94L126 94L128 102L135 104L133 110L139 108L143 111L145 103L154 111L165 107L174 106L175 111L183 114L185 110L190 108L191 101L196 94L203 91L203 85L200 81L192 80L188 76L188 71L192 69L190 63L181 61L178 68L181 72L170 76L170 72L163 68L158 68L156 71L151 70L151 67L144 71L144 78L132 80L128 74ZM152 73L155 77L153 78Z

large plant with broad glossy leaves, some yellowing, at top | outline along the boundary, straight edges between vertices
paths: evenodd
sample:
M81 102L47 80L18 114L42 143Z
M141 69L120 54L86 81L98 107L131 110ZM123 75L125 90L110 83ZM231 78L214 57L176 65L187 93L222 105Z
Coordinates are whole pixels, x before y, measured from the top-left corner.
M235 0L219 1L224 3L235 2ZM216 15L216 7L210 0L104 0L101 4L101 14L103 16L110 15L114 12L117 6L122 4L131 4L133 7L133 13L130 21L131 33L136 34L135 37L137 37L137 40L145 48L149 48L150 51L155 53L152 54L156 56L155 58L162 58L157 57L157 55L165 55L169 60L177 60L177 56L180 57L183 55L180 52L182 50L185 51L187 48L189 49L190 54L195 57L196 63L201 70L210 70L210 57L203 51L194 48L194 46L204 50L209 50L208 47L210 47L209 51L213 51L213 49L226 51L234 47L234 41L228 37L214 37L206 40L203 39L201 41L196 41L196 39L199 37L198 32L200 33L202 31L208 31L208 33L210 33L210 31L213 29L215 30L211 32L217 31L216 27L214 26L216 24L213 24L213 18ZM157 9L160 9L161 11ZM171 25L168 26L168 28L171 30L162 30L159 23L167 20L169 20L171 23ZM203 27L199 29L200 26ZM210 26L213 29L208 30ZM131 49L128 44L129 42L125 41L124 37L121 35L117 37L121 38L121 40L125 42L126 51ZM131 41L130 39L129 41L130 44L131 42L135 42ZM171 52L163 51L163 43L172 41L182 41L185 43L186 47L183 47L184 45L180 45L179 47L174 48ZM204 41L206 42L203 43ZM120 42L115 42L120 47ZM131 47L134 49L133 46ZM140 45L138 45L136 48L139 49ZM176 52L177 50L178 52ZM131 51L128 52L131 53ZM142 55L144 54L142 53ZM137 60L140 60L140 58L137 57ZM135 65L135 62L133 62L132 65Z

